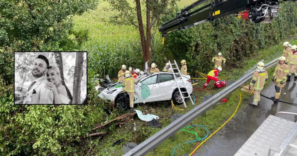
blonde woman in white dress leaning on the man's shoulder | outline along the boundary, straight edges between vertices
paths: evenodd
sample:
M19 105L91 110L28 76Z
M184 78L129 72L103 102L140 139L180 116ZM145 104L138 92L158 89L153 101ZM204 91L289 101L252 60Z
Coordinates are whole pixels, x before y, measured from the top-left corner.
M49 66L46 73L48 80L46 88L51 89L54 93L54 104L69 104L65 86L61 84L61 75L58 67Z

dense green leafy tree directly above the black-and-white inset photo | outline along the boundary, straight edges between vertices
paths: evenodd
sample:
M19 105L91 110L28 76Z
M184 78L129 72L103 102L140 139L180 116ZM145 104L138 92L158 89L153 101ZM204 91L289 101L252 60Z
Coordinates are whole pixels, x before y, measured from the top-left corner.
M72 31L72 17L95 9L97 1L1 0L0 47L17 51L62 50L59 41L67 40L69 34L81 34Z

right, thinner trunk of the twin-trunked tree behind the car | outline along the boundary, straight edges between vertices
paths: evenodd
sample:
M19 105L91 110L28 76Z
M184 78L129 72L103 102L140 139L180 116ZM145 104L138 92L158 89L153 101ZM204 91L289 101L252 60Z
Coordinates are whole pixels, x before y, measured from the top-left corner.
M151 7L150 0L146 0L146 54L144 62L151 58ZM148 62L150 64L150 62Z

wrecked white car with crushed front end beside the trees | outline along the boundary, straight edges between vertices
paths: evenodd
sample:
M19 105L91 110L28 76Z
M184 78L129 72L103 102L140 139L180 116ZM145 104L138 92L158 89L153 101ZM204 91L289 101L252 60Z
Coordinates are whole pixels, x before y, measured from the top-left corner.
M178 86L173 78L173 73L160 72L154 73L152 75L141 75L144 76L135 84L135 95L134 103L146 103L164 100L173 100L175 104L182 104L182 97L178 92ZM179 86L186 87L190 94L193 92L193 87L191 84L190 75L182 75L182 80L178 78L179 75L176 74L177 82ZM186 92L183 87L181 91ZM187 93L183 93L187 96ZM113 100L115 106L121 105L129 108L129 95L123 92L123 87L121 82L110 84L106 89L104 89L99 95L101 98L108 100Z

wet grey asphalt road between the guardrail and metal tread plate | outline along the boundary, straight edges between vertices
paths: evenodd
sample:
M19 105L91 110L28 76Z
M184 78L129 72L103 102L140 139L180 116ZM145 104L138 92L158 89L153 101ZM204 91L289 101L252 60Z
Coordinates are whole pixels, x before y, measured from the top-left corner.
M297 103L296 83L297 81L287 82L282 90L280 100ZM274 83L272 82L261 92L267 97L274 96L274 93ZM248 102L252 102L252 99L251 97ZM259 107L246 105L237 111L236 115L224 127L203 143L204 146L196 151L195 156L234 155L269 115L275 115L279 111L297 113L297 106L282 102L274 104L272 100L261 96ZM297 120L297 116L293 115L279 114L278 116L290 121Z

